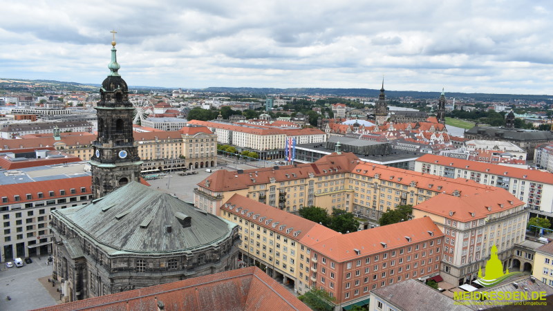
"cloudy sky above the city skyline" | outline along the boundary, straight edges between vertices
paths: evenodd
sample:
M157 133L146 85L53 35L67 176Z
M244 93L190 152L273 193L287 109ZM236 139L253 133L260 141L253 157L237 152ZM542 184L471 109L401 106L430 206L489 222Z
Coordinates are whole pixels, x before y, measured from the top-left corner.
M0 0L0 77L553 94L553 2Z

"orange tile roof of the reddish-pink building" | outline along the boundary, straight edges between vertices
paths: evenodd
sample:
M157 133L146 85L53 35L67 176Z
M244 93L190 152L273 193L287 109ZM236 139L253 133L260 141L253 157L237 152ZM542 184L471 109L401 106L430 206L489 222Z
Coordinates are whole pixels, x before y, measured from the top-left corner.
M443 235L431 218L424 217L349 234L339 234L312 245L311 249L334 261L344 262ZM410 241L405 238L406 236L411 238ZM382 243L385 243L386 248ZM358 249L359 254L356 254L354 249Z

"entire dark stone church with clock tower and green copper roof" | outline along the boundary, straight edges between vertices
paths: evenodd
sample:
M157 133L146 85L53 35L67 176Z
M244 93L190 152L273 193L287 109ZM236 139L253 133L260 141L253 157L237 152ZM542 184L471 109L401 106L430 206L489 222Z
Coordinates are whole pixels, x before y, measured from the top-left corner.
M96 107L93 200L51 214L53 279L63 302L238 267L238 225L140 183L133 108L112 46Z

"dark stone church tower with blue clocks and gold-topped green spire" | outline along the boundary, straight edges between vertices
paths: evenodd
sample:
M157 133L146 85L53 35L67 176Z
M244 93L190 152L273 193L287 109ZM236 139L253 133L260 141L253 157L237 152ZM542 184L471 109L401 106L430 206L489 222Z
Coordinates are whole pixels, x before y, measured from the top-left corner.
M102 82L100 102L95 109L98 137L91 158L93 198L102 198L131 181L139 182L140 157L133 139L133 105L129 88L119 75L115 50L115 31L111 41L111 73Z

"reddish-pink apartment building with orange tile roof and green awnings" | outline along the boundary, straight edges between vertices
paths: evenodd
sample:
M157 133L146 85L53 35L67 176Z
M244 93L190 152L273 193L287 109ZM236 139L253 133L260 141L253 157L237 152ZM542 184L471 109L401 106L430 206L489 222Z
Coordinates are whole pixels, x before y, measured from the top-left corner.
M350 234L310 247L310 287L340 305L367 299L371 290L440 272L443 234L429 218Z

